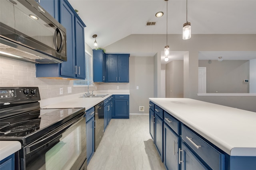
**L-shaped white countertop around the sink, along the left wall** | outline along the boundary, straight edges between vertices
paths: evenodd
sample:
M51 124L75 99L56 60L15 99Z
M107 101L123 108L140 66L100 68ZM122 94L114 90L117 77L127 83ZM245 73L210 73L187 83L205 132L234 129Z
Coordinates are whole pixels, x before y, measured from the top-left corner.
M91 107L99 104L100 102L104 101L111 95L118 95L118 94L130 94L129 91L101 91L94 94L108 94L104 98L80 98L83 96L84 93L81 94L74 94L69 96L63 96L58 98L50 98L40 101L41 108L44 109L52 109L52 108L79 108L85 107L86 110L90 109Z

